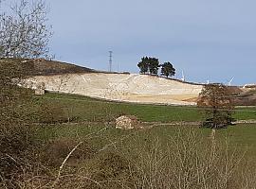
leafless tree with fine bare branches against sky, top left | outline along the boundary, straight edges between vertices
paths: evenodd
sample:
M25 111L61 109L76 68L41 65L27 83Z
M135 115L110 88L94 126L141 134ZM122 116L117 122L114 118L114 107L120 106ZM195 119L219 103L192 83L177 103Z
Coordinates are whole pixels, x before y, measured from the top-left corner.
M1 1L0 1L1 5ZM0 57L46 57L52 36L44 0L21 0L0 13Z

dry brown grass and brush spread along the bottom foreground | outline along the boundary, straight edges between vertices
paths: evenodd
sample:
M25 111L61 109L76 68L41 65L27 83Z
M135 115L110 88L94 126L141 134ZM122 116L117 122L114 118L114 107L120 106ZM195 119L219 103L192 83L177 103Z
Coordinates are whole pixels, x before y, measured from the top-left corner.
M78 141L55 141L48 152L52 152L50 159L56 156L56 164L48 166L41 160L40 166L21 173L15 182L18 188L249 189L256 186L255 169L244 159L247 150L229 148L228 139L225 142L206 139L194 129L178 130L167 143L157 137L151 141L137 137L135 134L113 146L106 144L104 150L90 149L90 156L84 155L88 153L88 144L77 146Z

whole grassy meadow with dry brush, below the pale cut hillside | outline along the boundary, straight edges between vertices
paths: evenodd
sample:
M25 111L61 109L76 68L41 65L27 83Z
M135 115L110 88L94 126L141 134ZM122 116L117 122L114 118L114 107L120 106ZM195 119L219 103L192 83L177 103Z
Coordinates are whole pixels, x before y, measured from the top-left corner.
M190 121L203 119L196 107L117 103L71 94L46 93L32 99L36 106L31 112L39 112L35 117L44 121L35 123L23 135L18 130L18 139L24 136L21 140L27 143L18 155L12 153L22 155L23 162L14 163L11 169L14 183L9 187L9 182L2 180L0 187L256 186L256 124L218 129L212 138L211 129L189 125ZM44 113L43 118L38 115ZM255 119L255 113L255 107L237 108L234 116L239 120ZM145 128L115 129L114 120L121 114L136 115L146 122ZM49 117L51 121L47 122ZM63 123L58 121L61 119ZM188 125L168 125L179 121L188 121ZM162 125L147 127L155 122ZM17 141L12 139L16 135L10 134L15 149ZM10 157L9 163L13 163L16 156Z

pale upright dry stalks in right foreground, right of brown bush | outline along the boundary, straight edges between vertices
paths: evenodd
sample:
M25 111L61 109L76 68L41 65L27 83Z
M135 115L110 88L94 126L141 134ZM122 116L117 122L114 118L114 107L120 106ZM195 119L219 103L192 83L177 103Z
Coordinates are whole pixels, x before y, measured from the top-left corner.
M255 170L239 167L244 153L230 150L228 142L205 140L192 129L187 131L172 137L167 146L155 139L150 147L139 149L139 158L133 162L137 173L133 177L135 188L256 186Z

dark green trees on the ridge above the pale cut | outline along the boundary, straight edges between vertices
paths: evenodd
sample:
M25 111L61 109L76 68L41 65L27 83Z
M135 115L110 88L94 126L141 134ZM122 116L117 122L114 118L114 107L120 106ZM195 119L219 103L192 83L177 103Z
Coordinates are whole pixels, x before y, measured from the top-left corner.
M160 64L159 60L151 57L143 57L138 63L137 67L141 74L157 75L158 69L161 67L161 75L165 77L173 77L175 69L172 63L164 62Z

